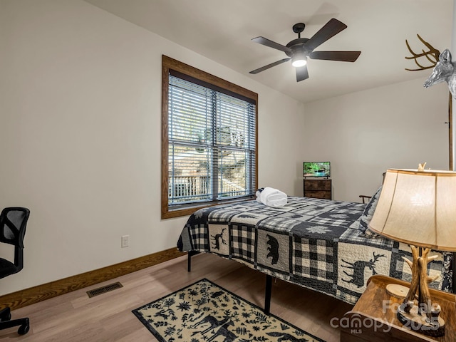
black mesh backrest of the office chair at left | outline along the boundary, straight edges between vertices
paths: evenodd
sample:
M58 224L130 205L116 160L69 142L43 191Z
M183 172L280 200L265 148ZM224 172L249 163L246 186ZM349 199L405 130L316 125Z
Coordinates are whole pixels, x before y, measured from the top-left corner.
M16 272L24 267L24 236L29 215L30 210L23 207L8 207L0 214L0 242L14 245Z

